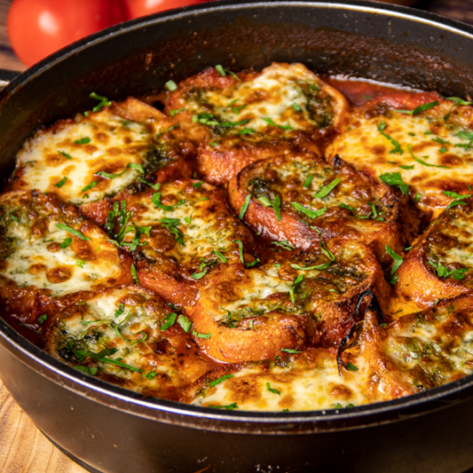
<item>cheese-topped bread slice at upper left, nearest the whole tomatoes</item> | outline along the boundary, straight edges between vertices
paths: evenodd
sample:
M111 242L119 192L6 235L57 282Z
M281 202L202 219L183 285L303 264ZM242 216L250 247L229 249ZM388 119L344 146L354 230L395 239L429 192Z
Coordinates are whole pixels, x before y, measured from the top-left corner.
M191 177L194 155L175 122L130 98L37 131L17 155L11 186L54 193L102 225L110 197L138 177Z

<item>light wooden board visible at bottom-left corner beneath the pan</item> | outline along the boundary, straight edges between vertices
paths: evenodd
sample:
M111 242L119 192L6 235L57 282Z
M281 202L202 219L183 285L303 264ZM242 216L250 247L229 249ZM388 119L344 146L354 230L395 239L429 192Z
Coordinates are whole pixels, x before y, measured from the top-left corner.
M87 473L51 444L0 381L0 471Z

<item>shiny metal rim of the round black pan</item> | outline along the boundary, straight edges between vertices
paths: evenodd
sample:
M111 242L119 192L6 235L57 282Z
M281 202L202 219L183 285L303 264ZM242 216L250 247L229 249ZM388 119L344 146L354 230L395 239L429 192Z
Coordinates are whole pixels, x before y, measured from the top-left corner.
M454 34L467 36L473 41L473 26L461 23L457 20L446 19L436 13L417 11L413 8L394 5L394 4L379 4L372 1L356 1L349 4L343 4L335 0L320 1L320 0L267 0L266 2L255 2L253 0L218 0L209 2L209 4L194 4L184 8L179 8L173 11L160 12L150 15L145 18L138 18L135 20L128 20L114 27L106 28L94 35L88 36L73 43L66 48L53 53L46 59L38 62L35 66L28 68L21 72L12 82L9 83L2 91L0 91L0 105L4 100L8 99L9 95L21 89L22 84L34 80L35 76L41 75L52 66L59 64L62 60L75 54L76 51L83 50L87 47L96 47L99 43L106 42L109 37L117 35L126 35L129 31L139 28L146 28L174 20L176 18L193 17L197 14L205 14L206 12L218 11L237 11L239 9L248 10L249 8L278 8L279 6L308 6L316 8L333 8L335 10L347 10L367 12L370 14L394 15L405 20L415 21L419 23L428 24L435 28L444 29ZM192 406L175 401L169 401L160 398L144 398L138 393L131 390L125 390L113 384L103 382L92 376L82 374L72 367L68 367L45 351L36 347L33 343L28 342L26 338L16 332L10 327L4 319L0 318L0 343L22 363L32 368L27 360L33 362L37 367L42 369L35 369L36 373L41 374L49 381L54 382L67 390L73 391L76 394L89 398L94 402L98 402L104 406L113 409L121 410L128 414L138 415L149 419L154 419L158 422L182 423L182 425L194 427L197 429L208 430L209 425L205 422L222 421L236 424L233 429L225 426L215 426L214 430L218 431L238 431L238 425L245 428L244 424L249 423L254 425L257 423L267 425L273 424L290 424L291 426L300 425L303 431L288 432L287 430L272 430L270 434L284 434L288 433L311 433L313 431L327 431L327 430L351 430L360 427L378 425L380 423L393 422L406 419L408 417L415 417L422 414L445 408L449 405L463 402L468 398L473 398L473 374L465 376L455 382L447 383L444 386L426 390L406 398L398 398L382 403L368 404L365 406L356 406L350 409L326 409L314 411L298 411L293 413L280 412L256 412L256 411L220 411L209 407ZM65 384L65 378L68 385ZM91 396L93 394L93 396ZM119 401L120 405L110 404L106 399ZM422 409L418 410L418 407ZM144 412L145 409L147 412ZM177 414L182 416L182 420L177 422L176 419L169 421L159 414ZM381 416L381 418L380 418ZM196 426L192 420L199 419L203 423ZM190 422L189 422L190 420ZM351 423L356 420L359 422ZM322 425L329 425L332 422L341 423L348 421L350 425L343 425L340 427L331 426L328 429L323 428ZM192 425L191 425L192 424ZM308 424L308 425L305 425ZM310 427L309 424L313 424ZM261 433L253 432L248 433Z

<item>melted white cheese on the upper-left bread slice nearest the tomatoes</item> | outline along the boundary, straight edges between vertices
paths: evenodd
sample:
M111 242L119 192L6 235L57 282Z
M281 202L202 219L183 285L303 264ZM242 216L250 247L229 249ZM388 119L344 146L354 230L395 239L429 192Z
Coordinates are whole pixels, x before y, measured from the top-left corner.
M17 155L14 189L55 193L82 205L119 193L146 169L146 126L103 110L41 131Z

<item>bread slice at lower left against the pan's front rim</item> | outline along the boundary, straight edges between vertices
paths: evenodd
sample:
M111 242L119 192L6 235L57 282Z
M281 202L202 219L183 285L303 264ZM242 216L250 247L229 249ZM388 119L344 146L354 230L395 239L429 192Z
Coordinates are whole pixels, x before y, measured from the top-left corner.
M157 296L138 286L102 290L44 324L55 358L146 396L181 400L217 364Z

